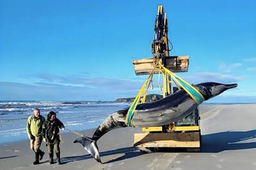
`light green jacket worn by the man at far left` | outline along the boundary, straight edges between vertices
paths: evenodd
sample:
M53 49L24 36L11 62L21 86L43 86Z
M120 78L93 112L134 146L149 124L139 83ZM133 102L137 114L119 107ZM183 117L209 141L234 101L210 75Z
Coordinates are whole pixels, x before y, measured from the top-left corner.
M42 125L45 122L45 118L41 115L39 118L35 118L34 115L28 117L27 121L27 133L28 138L31 139L31 136L41 136L42 133Z

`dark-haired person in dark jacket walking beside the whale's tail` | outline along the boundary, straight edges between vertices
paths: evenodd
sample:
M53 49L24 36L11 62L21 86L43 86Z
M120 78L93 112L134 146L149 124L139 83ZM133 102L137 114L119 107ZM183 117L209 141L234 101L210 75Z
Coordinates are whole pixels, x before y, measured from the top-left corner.
M53 164L53 150L56 153L57 162L60 162L60 134L59 128L65 130L63 123L56 118L56 113L50 111L47 115L47 120L45 120L42 128L43 141L47 143L47 148L50 157L50 164Z

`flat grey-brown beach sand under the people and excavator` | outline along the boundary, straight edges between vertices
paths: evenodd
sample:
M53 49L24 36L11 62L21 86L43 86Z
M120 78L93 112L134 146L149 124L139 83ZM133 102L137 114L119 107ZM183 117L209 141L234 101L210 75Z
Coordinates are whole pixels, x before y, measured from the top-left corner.
M256 169L256 104L200 106L202 152L141 153L132 147L134 132L141 128L120 128L97 142L104 164L96 162L73 141L76 134L62 134L63 164L50 165L46 153L42 163L33 166L34 153L29 140L0 145L0 169ZM94 129L81 131L92 136ZM55 156L55 155L54 155ZM55 158L55 157L54 157Z

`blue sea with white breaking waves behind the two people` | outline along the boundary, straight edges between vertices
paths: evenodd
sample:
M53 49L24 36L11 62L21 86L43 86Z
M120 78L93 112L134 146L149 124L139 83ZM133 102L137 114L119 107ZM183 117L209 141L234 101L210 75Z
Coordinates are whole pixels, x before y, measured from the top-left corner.
M27 139L26 122L35 108L45 118L55 111L67 129L80 131L98 127L108 115L127 106L129 103L102 101L1 101L0 143Z

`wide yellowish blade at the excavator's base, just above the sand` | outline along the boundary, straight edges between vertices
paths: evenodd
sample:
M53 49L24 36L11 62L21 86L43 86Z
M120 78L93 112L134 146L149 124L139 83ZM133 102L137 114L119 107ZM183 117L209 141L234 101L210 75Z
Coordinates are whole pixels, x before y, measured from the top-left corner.
M134 146L200 148L200 132L136 133Z

